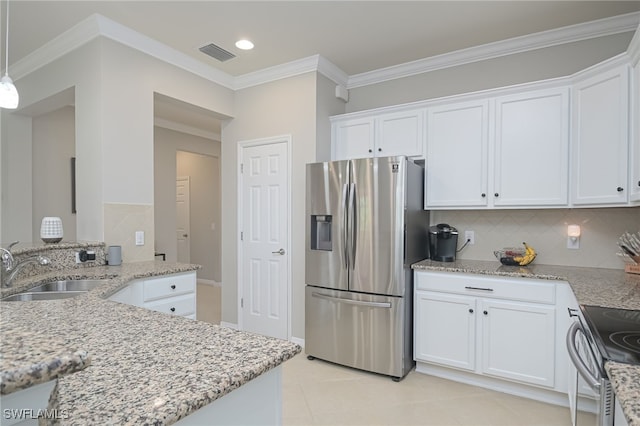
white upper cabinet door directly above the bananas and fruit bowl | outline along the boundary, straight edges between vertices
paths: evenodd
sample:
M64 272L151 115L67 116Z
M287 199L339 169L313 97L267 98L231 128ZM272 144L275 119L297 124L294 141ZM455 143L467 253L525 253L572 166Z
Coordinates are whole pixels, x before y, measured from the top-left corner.
M495 101L495 206L566 206L569 190L569 89Z

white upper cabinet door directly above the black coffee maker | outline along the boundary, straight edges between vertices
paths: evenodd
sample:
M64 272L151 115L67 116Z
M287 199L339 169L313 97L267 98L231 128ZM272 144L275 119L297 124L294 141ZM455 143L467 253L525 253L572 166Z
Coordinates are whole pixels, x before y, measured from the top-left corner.
M488 101L427 110L425 207L487 205Z

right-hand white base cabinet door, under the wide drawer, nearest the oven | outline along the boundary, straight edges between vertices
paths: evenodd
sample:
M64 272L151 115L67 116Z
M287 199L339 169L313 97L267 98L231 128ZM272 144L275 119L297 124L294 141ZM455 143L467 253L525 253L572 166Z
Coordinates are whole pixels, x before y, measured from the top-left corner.
M482 372L555 385L555 307L482 299Z

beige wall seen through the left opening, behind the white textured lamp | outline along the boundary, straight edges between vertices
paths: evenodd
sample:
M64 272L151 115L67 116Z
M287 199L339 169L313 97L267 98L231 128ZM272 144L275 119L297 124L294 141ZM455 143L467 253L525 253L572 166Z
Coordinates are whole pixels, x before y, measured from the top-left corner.
M76 215L71 212L71 157L75 156L75 108L63 107L34 117L33 239L38 241L45 216L62 219L63 241L76 241Z

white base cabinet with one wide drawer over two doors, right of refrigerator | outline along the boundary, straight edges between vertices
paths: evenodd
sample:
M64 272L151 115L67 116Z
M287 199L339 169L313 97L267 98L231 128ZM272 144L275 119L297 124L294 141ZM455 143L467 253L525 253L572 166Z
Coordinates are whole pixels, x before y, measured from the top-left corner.
M416 271L417 370L437 364L556 387L556 287L545 280Z

